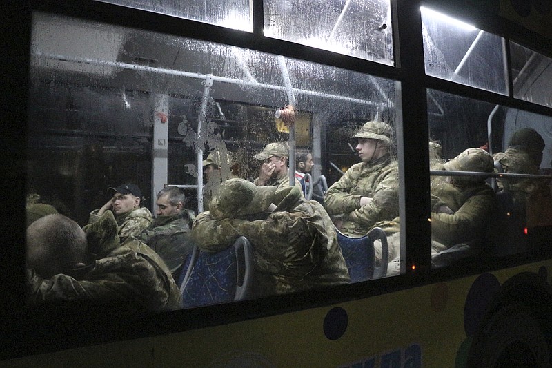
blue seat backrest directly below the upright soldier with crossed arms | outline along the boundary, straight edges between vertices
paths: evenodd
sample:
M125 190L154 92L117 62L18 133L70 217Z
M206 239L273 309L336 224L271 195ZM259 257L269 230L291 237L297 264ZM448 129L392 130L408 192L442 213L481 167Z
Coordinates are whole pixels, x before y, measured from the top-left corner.
M362 238L351 238L339 230L336 231L337 242L345 258L351 282L382 278L387 274L389 253L385 231L375 227ZM376 266L374 251L374 241L377 239L382 242L382 260L379 266Z

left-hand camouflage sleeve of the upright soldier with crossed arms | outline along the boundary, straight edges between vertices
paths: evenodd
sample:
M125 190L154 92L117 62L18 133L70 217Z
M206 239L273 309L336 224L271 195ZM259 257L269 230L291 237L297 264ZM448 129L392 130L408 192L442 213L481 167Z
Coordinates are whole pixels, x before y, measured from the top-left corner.
M353 189L353 177L357 175L360 166L353 165L335 183L333 183L324 196L324 207L330 215L344 215L355 211L359 207L361 195L349 194Z

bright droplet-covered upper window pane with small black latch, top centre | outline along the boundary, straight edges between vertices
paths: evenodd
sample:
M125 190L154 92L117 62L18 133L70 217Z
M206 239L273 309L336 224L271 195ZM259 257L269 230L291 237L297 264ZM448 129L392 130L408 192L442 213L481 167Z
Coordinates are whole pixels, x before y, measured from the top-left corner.
M264 1L264 35L393 65L389 0Z

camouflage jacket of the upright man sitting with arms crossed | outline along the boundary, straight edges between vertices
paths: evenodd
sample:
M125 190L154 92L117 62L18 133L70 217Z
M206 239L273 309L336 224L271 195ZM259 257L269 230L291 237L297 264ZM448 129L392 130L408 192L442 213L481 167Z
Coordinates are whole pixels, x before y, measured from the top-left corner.
M330 215L342 220L342 233L359 237L377 223L399 215L399 171L397 162L384 156L373 164L359 162L349 168L324 196ZM360 197L370 197L360 206Z

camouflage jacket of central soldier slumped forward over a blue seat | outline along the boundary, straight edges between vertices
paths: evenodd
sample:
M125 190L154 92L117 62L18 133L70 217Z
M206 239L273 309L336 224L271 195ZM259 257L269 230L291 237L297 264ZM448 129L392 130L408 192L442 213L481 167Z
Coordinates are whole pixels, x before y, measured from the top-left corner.
M330 217L321 204L293 188L273 213L260 220L214 220L197 216L192 236L200 249L216 252L241 235L253 244L253 296L292 293L349 281ZM286 205L282 205L282 204Z

